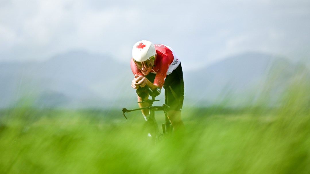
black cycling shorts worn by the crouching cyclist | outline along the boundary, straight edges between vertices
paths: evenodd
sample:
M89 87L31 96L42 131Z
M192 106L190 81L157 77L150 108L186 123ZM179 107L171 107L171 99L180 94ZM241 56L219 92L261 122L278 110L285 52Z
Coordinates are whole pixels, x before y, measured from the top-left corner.
M145 77L154 83L155 76L156 74L149 73ZM165 88L165 103L170 106L170 110L181 111L184 100L184 81L181 63L171 74L166 76L163 87Z

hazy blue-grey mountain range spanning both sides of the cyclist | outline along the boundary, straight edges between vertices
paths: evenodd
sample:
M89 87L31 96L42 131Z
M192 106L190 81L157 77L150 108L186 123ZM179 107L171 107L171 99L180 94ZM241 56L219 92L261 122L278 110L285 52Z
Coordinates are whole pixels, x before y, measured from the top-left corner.
M309 70L286 59L244 53L191 72L184 71L184 105L250 104L263 95L276 99ZM27 104L47 108L111 108L136 102L129 65L84 51L45 62L0 63L0 108ZM309 78L310 79L310 78Z

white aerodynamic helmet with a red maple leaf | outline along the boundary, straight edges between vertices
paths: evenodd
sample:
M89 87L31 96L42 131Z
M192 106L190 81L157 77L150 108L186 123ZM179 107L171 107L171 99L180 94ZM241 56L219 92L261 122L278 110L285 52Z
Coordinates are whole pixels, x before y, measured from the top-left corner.
M152 42L148 40L141 40L132 48L132 58L136 62L144 62L156 54L155 47Z

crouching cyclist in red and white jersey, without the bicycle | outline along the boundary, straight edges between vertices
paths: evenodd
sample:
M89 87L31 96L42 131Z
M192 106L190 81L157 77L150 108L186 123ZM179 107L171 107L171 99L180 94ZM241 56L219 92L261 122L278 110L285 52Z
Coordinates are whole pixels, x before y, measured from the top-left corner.
M130 62L134 74L131 87L148 86L155 90L157 87L165 88L165 103L170 106L168 118L175 132L184 129L181 119L181 110L184 99L183 71L179 58L175 52L166 45L153 44L147 40L141 40L132 48ZM147 100L138 95L138 101ZM149 106L148 103L138 103L139 107ZM149 110L141 110L145 120L148 120Z

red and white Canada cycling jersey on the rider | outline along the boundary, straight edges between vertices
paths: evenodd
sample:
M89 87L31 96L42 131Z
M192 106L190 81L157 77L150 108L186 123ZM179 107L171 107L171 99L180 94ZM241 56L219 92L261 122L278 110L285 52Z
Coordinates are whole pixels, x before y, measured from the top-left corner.
M157 59L154 62L151 73L156 74L154 84L162 87L165 83L166 76L171 74L176 67L179 66L180 60L169 46L162 44L153 44L157 53ZM133 74L142 75L142 72L135 65L134 60L131 58L130 66Z

